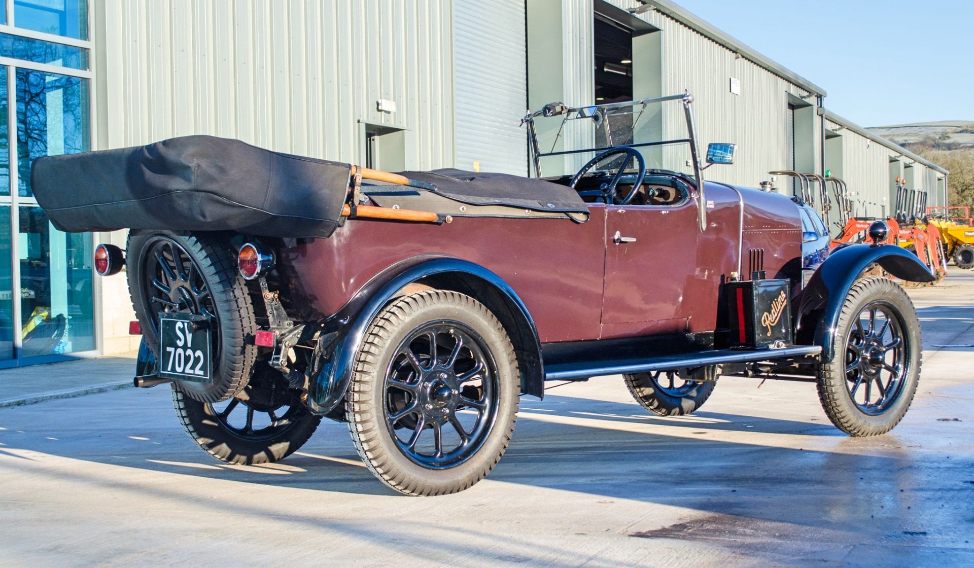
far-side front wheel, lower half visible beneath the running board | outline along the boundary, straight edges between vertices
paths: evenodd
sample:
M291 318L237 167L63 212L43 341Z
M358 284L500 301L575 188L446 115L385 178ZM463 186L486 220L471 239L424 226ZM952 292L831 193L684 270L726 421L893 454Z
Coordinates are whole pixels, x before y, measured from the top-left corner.
M659 416L682 416L697 410L717 385L716 367L651 371L622 375L629 393Z

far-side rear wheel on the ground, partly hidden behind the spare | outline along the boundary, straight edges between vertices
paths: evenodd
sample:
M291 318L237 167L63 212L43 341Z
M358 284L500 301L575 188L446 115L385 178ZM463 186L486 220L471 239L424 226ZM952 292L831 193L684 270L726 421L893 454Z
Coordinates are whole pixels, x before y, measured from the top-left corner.
M237 398L200 402L172 390L172 402L186 433L214 458L237 465L277 462L315 433L311 414L297 391L266 379L251 381Z

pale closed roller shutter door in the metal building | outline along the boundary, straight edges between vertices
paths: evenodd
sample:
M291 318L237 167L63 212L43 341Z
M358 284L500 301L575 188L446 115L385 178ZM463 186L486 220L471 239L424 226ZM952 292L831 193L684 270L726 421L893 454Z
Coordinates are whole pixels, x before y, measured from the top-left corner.
M456 0L453 85L457 168L527 174L524 0Z

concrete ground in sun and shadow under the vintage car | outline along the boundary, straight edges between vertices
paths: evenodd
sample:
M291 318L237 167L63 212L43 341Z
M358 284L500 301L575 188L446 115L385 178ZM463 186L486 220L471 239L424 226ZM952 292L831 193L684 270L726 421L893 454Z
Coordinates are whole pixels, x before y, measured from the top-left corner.
M910 293L922 378L888 435L843 435L810 384L726 378L659 418L596 379L523 399L497 469L446 497L386 489L331 422L226 466L165 387L0 408L0 566L971 566L974 271Z

